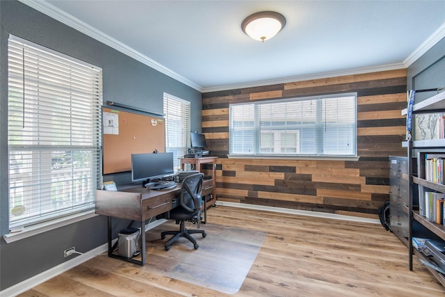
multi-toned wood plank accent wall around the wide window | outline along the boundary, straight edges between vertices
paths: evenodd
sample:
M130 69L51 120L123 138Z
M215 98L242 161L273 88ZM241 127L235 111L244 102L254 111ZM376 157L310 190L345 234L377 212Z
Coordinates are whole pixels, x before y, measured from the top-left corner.
M406 84L401 69L204 93L218 200L377 218L389 200L389 156L406 156ZM358 161L227 158L229 104L348 92L357 92Z

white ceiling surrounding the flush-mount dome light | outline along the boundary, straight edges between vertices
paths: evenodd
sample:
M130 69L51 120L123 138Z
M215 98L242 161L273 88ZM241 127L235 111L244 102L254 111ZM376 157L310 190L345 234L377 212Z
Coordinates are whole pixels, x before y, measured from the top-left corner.
M202 92L407 67L445 36L441 0L21 1ZM263 10L287 23L261 43Z

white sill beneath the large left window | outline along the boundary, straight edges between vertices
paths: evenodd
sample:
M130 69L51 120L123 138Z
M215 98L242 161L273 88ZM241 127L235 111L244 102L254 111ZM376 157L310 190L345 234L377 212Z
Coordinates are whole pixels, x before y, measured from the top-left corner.
M25 239L27 237L31 237L34 235L38 235L50 230L54 230L66 225L70 225L72 223L79 222L81 220L86 220L88 218L92 218L95 216L99 216L95 214L95 210L91 209L89 211L82 212L81 214L74 214L72 216L65 216L63 218L57 218L55 220L49 220L44 223L32 225L29 227L24 227L19 232L13 232L3 235L3 239L5 239L6 243L12 243L14 241L19 241L20 239Z

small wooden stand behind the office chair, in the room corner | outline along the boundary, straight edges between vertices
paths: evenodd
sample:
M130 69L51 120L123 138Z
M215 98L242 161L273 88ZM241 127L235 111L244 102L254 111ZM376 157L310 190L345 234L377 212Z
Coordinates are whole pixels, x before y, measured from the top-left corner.
M216 202L216 159L218 156L203 156L201 158L181 158L181 169L184 170L185 164L192 164L195 170L201 172L202 164L212 164L211 166L211 186L204 183L202 187L202 197L211 193L211 199L204 199L204 223L207 222L207 208ZM205 182L206 180L204 180Z

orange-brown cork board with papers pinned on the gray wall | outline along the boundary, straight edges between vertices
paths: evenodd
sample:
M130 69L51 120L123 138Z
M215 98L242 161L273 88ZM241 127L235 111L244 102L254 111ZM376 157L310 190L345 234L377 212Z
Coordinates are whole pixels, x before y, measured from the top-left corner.
M103 174L131 170L131 154L165 152L162 117L104 108Z

